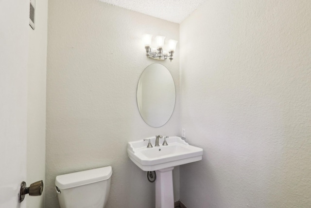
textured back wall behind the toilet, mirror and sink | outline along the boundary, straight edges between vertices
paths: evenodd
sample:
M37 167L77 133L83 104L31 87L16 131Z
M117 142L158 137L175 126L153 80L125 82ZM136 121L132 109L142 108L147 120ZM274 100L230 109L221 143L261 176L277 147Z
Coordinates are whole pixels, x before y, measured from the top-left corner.
M139 76L151 63L164 64L179 90L179 53L173 62L146 58L144 33L178 40L179 25L96 0L49 1L46 208L59 207L57 175L104 166L113 169L107 208L154 207L155 185L130 161L126 147L179 132L178 104L166 125L152 128L136 102Z

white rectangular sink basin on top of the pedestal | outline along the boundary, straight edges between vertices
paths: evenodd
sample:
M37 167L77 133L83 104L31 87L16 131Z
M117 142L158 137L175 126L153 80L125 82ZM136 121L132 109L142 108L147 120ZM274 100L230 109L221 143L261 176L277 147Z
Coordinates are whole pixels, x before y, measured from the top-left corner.
M147 139L150 139L154 146L155 137ZM168 146L162 146L163 139L160 139L160 147L153 148L147 148L148 141L142 139L129 142L128 156L145 171L161 170L202 160L203 149L189 145L178 136L169 137L166 141Z

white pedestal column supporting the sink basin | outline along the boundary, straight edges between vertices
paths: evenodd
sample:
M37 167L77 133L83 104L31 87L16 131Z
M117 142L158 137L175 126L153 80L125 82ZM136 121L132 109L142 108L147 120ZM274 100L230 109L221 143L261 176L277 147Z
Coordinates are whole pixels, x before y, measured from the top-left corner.
M173 208L173 172L174 167L155 170L155 208Z

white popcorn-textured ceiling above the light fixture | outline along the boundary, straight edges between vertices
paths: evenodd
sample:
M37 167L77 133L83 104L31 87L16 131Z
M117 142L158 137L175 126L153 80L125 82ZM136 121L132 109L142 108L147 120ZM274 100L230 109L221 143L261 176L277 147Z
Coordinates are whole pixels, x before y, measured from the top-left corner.
M181 23L205 0L100 0L156 18Z

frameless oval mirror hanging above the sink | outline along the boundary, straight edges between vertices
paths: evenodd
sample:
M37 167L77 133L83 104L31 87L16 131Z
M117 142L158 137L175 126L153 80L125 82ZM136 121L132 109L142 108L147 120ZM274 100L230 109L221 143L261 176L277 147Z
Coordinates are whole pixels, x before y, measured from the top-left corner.
M175 107L175 84L162 64L149 65L141 74L137 87L137 105L143 120L152 127L166 124Z

